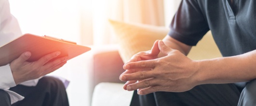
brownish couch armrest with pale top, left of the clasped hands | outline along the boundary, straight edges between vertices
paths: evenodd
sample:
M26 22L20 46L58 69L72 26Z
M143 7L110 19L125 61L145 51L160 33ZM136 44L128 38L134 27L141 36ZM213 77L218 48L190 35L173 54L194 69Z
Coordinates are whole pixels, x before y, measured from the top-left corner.
M119 76L125 70L117 45L92 47L93 85L100 82L121 82Z

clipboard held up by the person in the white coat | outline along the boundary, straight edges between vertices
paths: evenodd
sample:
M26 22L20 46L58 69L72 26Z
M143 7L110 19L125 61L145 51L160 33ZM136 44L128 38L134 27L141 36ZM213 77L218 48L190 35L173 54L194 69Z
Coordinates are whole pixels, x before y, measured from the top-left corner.
M27 61L32 62L55 51L61 52L57 58L68 56L72 59L89 50L91 50L90 47L76 45L75 42L55 37L24 34L0 47L0 66L11 63L25 51L31 52L31 57Z

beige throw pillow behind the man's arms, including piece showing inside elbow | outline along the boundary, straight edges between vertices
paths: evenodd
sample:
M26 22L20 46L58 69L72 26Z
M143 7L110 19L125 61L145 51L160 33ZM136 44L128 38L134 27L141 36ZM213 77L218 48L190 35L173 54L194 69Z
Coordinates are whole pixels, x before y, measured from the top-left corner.
M134 54L150 50L157 39L163 39L169 32L169 29L165 27L114 20L109 20L109 22L120 46L119 54L124 63ZM210 31L199 41L197 46L192 47L188 57L194 60L221 57Z

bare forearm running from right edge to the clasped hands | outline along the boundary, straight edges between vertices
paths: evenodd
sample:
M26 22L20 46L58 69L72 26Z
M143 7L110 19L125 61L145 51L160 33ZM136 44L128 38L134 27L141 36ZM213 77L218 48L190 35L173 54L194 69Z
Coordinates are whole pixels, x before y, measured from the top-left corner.
M233 57L199 60L197 78L203 83L246 82L256 79L256 50Z

